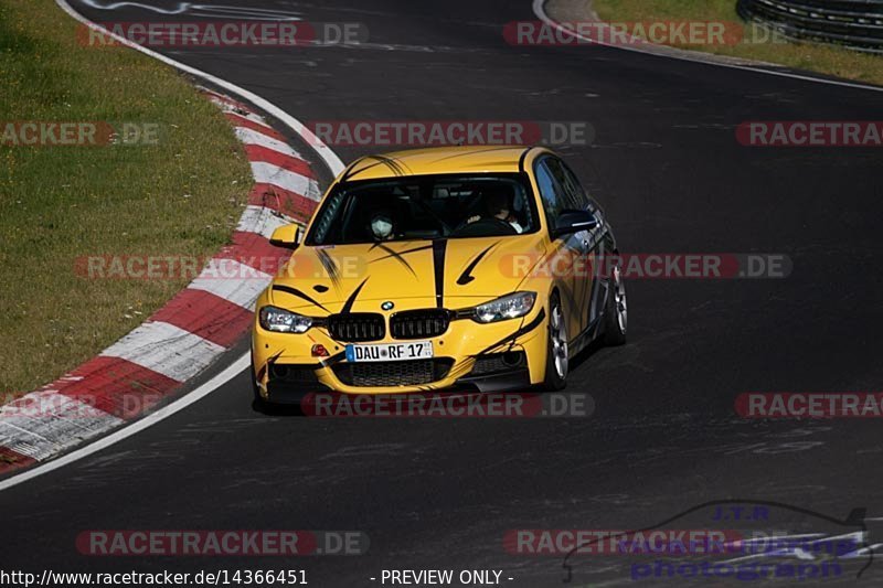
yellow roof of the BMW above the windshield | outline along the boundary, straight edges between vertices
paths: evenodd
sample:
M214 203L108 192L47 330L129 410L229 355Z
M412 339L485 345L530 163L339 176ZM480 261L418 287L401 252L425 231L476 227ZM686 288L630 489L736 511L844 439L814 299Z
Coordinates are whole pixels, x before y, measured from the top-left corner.
M442 173L515 173L528 150L523 146L436 147L368 156L353 162L341 181Z

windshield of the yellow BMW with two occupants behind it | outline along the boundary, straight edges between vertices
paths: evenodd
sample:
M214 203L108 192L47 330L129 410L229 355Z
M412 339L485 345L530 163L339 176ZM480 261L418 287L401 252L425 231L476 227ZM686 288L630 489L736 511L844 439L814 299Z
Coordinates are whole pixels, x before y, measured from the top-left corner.
M339 185L317 214L307 245L497 237L539 229L520 174L419 175Z

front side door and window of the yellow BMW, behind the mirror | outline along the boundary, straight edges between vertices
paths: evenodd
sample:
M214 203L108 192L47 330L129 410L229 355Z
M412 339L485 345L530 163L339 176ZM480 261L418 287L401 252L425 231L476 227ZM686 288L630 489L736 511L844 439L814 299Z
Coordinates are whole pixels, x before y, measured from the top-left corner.
M562 169L556 160L557 158L553 156L543 156L534 164L534 174L550 231L556 226L564 211L574 209L570 192L561 182ZM549 259L551 275L558 286L567 321L567 339L571 341L575 340L585 328L587 293L584 291L584 280L575 271L585 250L584 237L582 233L576 233L555 239L554 253Z

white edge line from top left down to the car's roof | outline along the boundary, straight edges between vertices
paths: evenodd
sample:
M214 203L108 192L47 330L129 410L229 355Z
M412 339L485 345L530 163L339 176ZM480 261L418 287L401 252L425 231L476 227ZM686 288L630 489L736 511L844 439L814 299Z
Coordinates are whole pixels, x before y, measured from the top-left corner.
M74 18L77 21L82 22L83 24L85 24L89 29L93 29L95 31L100 31L104 34L109 35L115 41L117 41L117 42L119 42L119 43L121 43L121 44L124 44L124 45L126 45L128 47L131 47L131 49L134 49L136 51L139 51L139 52L143 53L145 55L150 55L151 57L153 57L156 60L159 60L164 64L171 65L172 67L175 67L175 68L178 68L178 70L180 70L182 72L187 72L187 73L189 73L191 75L194 75L196 77L201 77L202 79L205 79L206 82L210 82L211 84L213 84L213 85L215 85L217 87L224 88L225 90L227 90L227 92L230 92L232 94L235 94L240 98L252 103L258 109L264 110L266 114L268 114L272 117L276 118L277 120L284 122L286 126L288 126L288 128L290 128L299 137L304 138L305 140L309 139L309 145L316 150L316 153L320 158L322 158L322 161L325 161L325 163L328 165L328 169L331 171L331 173L334 177L337 177L338 174L340 174L343 171L343 169L344 169L343 162L340 160L340 158L337 156L337 153L334 153L331 150L330 147L328 147L320 138L318 138L315 135L312 135L312 132L306 126L304 126L304 124L300 120L298 120L297 118L292 117L291 115L289 115L288 113L286 113L285 110L283 110L278 106L276 106L275 104L270 103L266 98L262 98L260 96L258 96L257 94L254 94L253 92L248 92L247 89L245 89L243 87L240 87L236 84L233 84L233 83L227 82L225 79L221 79L220 77L214 76L212 74L209 74L206 72L203 72L202 70L198 70L198 68L192 67L190 65L184 65L183 63L181 63L179 61L175 61L175 60L172 60L171 57L167 57L166 55L163 55L161 53L157 53L156 51L152 51L150 49L143 47L143 46L137 44L137 43L132 43L128 39L125 39L125 38L118 35L116 33L113 33L113 32L108 31L107 29L105 29L104 26L95 24L91 20L86 19L85 17L79 14L76 10L74 10L71 7L71 4L67 3L67 0L55 0L55 3L58 4L58 7L61 7L61 9L64 10L66 13L68 13L72 18Z

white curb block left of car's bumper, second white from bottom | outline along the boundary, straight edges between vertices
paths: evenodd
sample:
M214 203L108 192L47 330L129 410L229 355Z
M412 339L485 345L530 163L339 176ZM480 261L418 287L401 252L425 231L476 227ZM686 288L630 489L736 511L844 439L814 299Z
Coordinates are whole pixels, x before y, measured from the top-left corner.
M227 280L219 280L227 281ZM102 355L120 357L187 382L212 363L224 348L168 322L146 322L107 348Z

